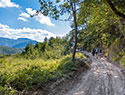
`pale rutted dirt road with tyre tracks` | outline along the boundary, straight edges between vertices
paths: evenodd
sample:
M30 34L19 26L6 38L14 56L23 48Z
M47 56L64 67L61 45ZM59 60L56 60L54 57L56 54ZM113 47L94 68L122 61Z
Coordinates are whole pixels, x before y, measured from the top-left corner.
M80 76L73 89L62 95L125 95L125 76L104 58L92 58L91 69Z

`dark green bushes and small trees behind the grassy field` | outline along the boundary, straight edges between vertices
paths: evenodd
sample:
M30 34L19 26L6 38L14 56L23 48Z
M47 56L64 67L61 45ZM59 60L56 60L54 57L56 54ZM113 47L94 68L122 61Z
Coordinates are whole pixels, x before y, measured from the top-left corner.
M43 59L58 59L64 55L67 41L65 38L53 38L36 45L28 44L22 53L27 59L41 57Z

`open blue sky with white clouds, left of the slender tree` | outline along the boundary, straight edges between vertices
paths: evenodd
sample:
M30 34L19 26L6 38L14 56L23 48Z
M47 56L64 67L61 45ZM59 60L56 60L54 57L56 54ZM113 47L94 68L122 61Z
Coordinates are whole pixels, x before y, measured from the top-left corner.
M71 22L56 21L34 14L40 8L38 0L0 0L0 37L29 38L43 41L44 37L67 34Z

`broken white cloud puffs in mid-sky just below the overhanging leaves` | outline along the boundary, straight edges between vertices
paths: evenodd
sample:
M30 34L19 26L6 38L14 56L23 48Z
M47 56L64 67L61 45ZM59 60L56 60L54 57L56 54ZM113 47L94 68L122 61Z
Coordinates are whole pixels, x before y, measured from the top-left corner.
M30 17L30 15L35 15L36 10L32 10L32 8L26 8L27 13L23 12L19 15L19 17L24 18L25 20ZM44 16L43 14L37 14L33 17L36 21L38 21L41 24L46 24L48 26L55 26L50 20L49 17ZM24 21L24 20L23 20Z

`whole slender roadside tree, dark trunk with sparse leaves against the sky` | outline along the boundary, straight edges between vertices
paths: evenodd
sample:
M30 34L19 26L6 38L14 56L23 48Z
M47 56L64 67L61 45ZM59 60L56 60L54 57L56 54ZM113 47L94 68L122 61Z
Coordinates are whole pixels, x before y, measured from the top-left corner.
M73 50L72 60L75 59L75 53L77 48L77 7L80 7L82 0L39 0L41 8L37 13L51 16L54 19L59 19L59 16L67 13L69 18L65 21L73 18L74 30L75 30L75 44Z

